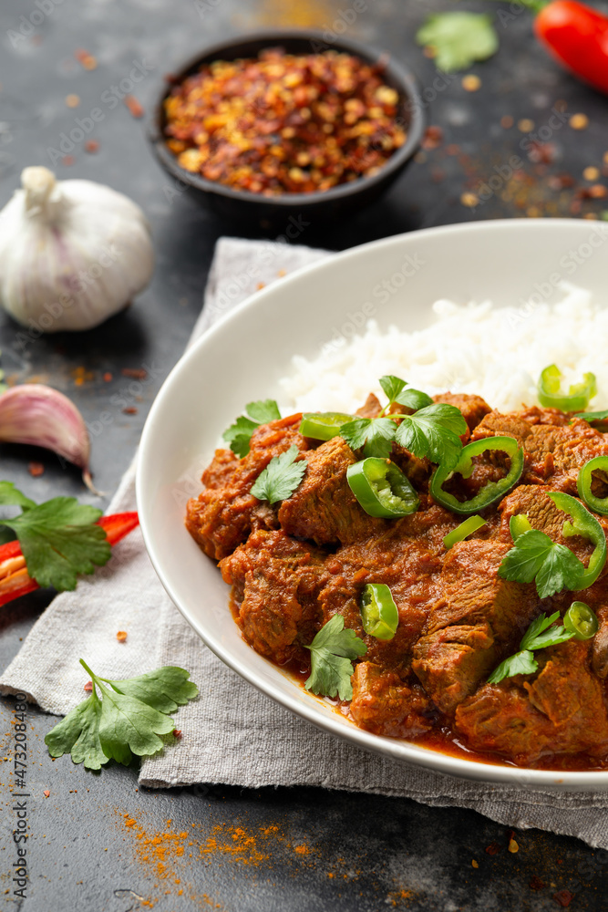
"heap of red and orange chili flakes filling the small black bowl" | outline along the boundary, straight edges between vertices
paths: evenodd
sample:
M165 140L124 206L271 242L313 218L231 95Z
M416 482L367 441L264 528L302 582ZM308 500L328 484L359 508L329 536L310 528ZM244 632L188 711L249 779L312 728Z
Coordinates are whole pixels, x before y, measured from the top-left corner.
M167 146L186 171L264 196L355 181L407 140L383 73L336 51L216 60L171 89Z

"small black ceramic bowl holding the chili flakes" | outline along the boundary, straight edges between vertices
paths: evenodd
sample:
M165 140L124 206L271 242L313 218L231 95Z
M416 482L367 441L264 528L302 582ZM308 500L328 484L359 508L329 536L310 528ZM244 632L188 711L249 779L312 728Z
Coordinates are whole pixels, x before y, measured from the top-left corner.
M339 38L326 42L320 32L308 30L267 31L250 36L232 38L222 44L209 47L185 66L171 73L171 81L165 81L158 102L152 112L149 125L149 140L162 166L180 185L196 193L211 208L231 220L245 219L265 226L287 225L290 217L301 216L308 222L314 219L337 219L358 212L386 190L406 167L420 145L424 131L424 114L417 92L416 79L395 60L388 58L384 79L386 85L396 88L399 93L400 111L407 130L407 140L397 149L386 164L371 177L340 184L330 190L309 193L283 193L266 197L260 193L233 190L218 181L208 181L200 174L193 174L180 168L176 157L168 149L163 133L165 112L163 102L176 82L196 73L203 64L212 60L235 60L237 57L257 57L266 47L283 47L287 53L310 54L325 50L337 50L356 55L366 63L376 63L383 55L373 47L356 41Z

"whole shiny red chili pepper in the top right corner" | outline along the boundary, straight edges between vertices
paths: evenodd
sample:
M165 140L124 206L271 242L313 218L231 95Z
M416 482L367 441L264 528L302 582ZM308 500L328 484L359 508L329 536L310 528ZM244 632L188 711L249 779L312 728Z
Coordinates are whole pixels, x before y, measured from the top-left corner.
M552 0L534 32L562 66L608 94L608 16L575 0Z

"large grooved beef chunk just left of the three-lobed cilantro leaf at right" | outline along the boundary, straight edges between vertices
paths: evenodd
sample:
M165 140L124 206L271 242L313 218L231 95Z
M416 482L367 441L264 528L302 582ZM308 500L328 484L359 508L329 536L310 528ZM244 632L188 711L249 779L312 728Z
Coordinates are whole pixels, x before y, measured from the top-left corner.
M517 644L538 604L533 586L498 575L509 545L473 540L449 551L428 628L412 669L428 695L451 713Z

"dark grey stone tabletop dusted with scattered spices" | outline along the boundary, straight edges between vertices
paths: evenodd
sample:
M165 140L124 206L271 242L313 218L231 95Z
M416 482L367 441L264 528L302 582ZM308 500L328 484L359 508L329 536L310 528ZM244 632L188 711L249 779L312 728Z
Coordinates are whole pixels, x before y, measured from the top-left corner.
M110 108L104 93L129 78L133 62L139 61L150 74L133 92L149 108L160 76L206 43L256 26L318 25L342 31L345 18L353 18L353 7L335 0L199 0L198 10L186 0L46 0L42 5L50 12L39 23L40 7L33 0L12 0L0 11L0 204L15 190L22 167L51 166L54 153L47 150L57 149L61 134L76 126L77 117L99 107L104 119L91 133L99 141L98 152L87 153L77 143L68 150L73 163L59 161L55 170L59 178L106 182L139 202L152 223L158 266L149 289L127 313L89 333L32 337L23 343L15 324L0 316L1 363L18 381L36 377L66 391L92 428L102 411L110 413L105 430L93 435L93 470L98 487L112 492L137 445L149 404L199 313L215 240L241 231L174 192L149 154L142 121L133 119L122 103ZM435 96L428 119L441 128L442 137L437 148L418 156L388 197L348 223L306 226L301 243L342 249L443 223L597 215L608 209L602 199L585 199L580 192L598 182L584 181L583 169L603 168L606 99L551 63L531 36L528 13L502 17L500 54L473 67L481 78L479 91L465 91L460 77L439 80L433 88L434 65L417 49L414 34L429 9L443 6L367 0L366 10L348 26L348 34L386 47L417 71L428 89L426 97ZM509 10L508 5L500 8ZM84 70L74 57L77 48L95 55L98 67ZM66 106L70 93L80 98L76 109ZM569 114L588 115L588 128L575 131L563 120L551 121L556 103ZM512 117L514 125L501 126L504 116ZM517 126L526 118L535 123L533 128L522 125L528 133ZM541 139L549 145L541 158L551 153L544 164L528 156L528 134L543 126ZM517 180L513 169L519 172ZM564 172L572 174L574 185L559 189L555 176ZM462 194L479 192L493 175L498 177L489 199L463 205ZM142 366L153 369L139 389L121 369ZM77 368L83 367L90 373L78 385ZM111 381L103 380L105 372L112 374ZM124 414L125 405L135 406L137 414ZM36 479L26 472L33 458L46 467ZM50 454L4 445L0 460L2 477L37 500L57 493L88 499L78 473L62 469ZM46 601L36 593L3 609L3 667ZM31 881L22 903L12 894L8 873L15 860L14 818L8 810L13 706L13 700L2 701L0 771L6 814L0 895L28 912L143 912L149 902L159 912L208 907L230 912L372 912L385 907L540 912L559 908L552 896L565 887L574 894L570 907L577 912L606 907L608 854L577 840L523 832L516 835L519 852L511 854L505 828L479 814L314 789L253 792L201 786L138 792L135 769L110 767L96 776L65 757L52 762L43 738L55 720L36 709L29 714ZM129 824L131 820L135 822ZM145 843L159 831L170 834L164 862L157 846ZM211 848L210 839L220 848L201 852ZM500 851L488 855L485 848L492 843ZM159 862L165 867L159 868ZM532 876L540 878L541 889L531 889Z

